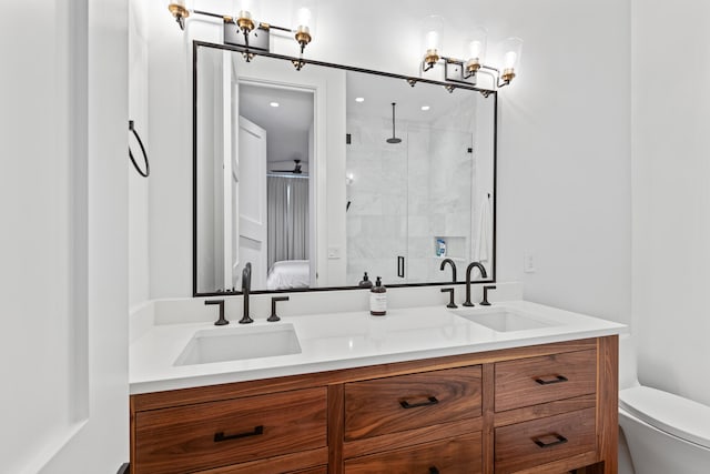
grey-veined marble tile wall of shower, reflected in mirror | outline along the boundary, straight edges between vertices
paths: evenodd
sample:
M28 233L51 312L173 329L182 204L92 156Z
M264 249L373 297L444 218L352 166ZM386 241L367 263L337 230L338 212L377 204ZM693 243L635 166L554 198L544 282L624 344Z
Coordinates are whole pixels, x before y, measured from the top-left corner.
M385 284L444 281L435 256L436 236L464 239L470 258L470 205L475 168L475 100L467 98L430 127L397 122L390 144L389 118L347 118L347 279L357 284L367 271ZM407 279L397 278L396 255L406 256Z

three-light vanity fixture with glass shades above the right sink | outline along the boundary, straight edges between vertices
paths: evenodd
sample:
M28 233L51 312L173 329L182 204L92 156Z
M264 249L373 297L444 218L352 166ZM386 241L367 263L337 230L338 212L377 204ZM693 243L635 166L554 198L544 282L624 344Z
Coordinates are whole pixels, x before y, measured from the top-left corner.
M508 38L503 42L503 68L499 69L485 63L488 42L488 34L485 28L477 27L471 30L465 46L466 58L457 59L446 57L442 52L443 18L436 14L429 16L424 20L423 24L424 58L422 60L422 72L427 72L434 69L437 63L444 62L444 78L446 81L464 82L473 85L477 84L477 75L485 73L493 78L490 91L508 85L516 77L520 64L521 39ZM454 89L450 85L446 87L449 92L453 92Z

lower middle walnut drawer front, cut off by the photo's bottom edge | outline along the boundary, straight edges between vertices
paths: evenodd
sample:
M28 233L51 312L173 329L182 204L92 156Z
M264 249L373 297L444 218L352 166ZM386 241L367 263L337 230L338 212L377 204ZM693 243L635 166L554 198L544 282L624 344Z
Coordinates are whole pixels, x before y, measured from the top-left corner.
M345 461L345 474L474 474L481 472L480 433Z

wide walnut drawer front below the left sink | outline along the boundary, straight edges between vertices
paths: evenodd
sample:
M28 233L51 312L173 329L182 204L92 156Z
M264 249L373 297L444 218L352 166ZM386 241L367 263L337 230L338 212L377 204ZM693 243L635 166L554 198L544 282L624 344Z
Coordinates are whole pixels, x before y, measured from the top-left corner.
M135 472L187 473L325 446L326 389L135 414Z

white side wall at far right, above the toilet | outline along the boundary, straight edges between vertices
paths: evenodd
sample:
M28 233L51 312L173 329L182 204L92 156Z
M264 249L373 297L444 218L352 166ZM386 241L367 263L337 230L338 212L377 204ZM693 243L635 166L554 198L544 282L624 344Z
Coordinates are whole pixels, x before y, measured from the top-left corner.
M710 405L710 4L632 6L639 377Z

